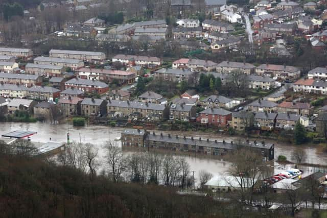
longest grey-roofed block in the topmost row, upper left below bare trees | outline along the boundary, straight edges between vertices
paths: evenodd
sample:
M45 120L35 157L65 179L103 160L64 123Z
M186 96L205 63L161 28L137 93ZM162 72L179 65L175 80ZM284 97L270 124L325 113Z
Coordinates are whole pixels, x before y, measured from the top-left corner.
M79 59L88 62L101 62L106 59L106 55L103 52L86 52L55 49L50 50L49 56L51 58Z

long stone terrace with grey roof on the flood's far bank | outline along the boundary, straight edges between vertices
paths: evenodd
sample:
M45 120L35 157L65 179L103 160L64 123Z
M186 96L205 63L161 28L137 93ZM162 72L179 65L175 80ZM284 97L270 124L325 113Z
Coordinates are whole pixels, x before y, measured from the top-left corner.
M108 100L108 114L120 114L120 116L146 117L150 119L168 118L169 108L166 105Z

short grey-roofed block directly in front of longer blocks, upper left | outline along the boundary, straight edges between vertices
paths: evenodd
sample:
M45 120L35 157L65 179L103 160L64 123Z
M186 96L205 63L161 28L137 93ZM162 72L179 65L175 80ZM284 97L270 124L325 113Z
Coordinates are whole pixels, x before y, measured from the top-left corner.
M34 74L34 75L38 75L38 76L62 77L62 73L64 72L64 67L48 65L48 64L28 63L25 66L25 70L29 74Z

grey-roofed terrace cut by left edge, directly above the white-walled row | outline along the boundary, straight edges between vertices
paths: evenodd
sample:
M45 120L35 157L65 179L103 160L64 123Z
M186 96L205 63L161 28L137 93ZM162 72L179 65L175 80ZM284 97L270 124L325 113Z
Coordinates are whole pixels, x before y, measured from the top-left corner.
M0 82L4 84L19 84L21 86L31 87L42 84L42 78L31 74L8 74L0 72Z

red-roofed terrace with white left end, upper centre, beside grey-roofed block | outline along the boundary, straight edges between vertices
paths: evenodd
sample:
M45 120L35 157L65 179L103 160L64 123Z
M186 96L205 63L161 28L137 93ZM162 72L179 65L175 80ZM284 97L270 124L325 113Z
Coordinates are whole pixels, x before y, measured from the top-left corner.
M217 63L208 60L181 58L173 62L174 69L192 69L196 71L214 71Z

